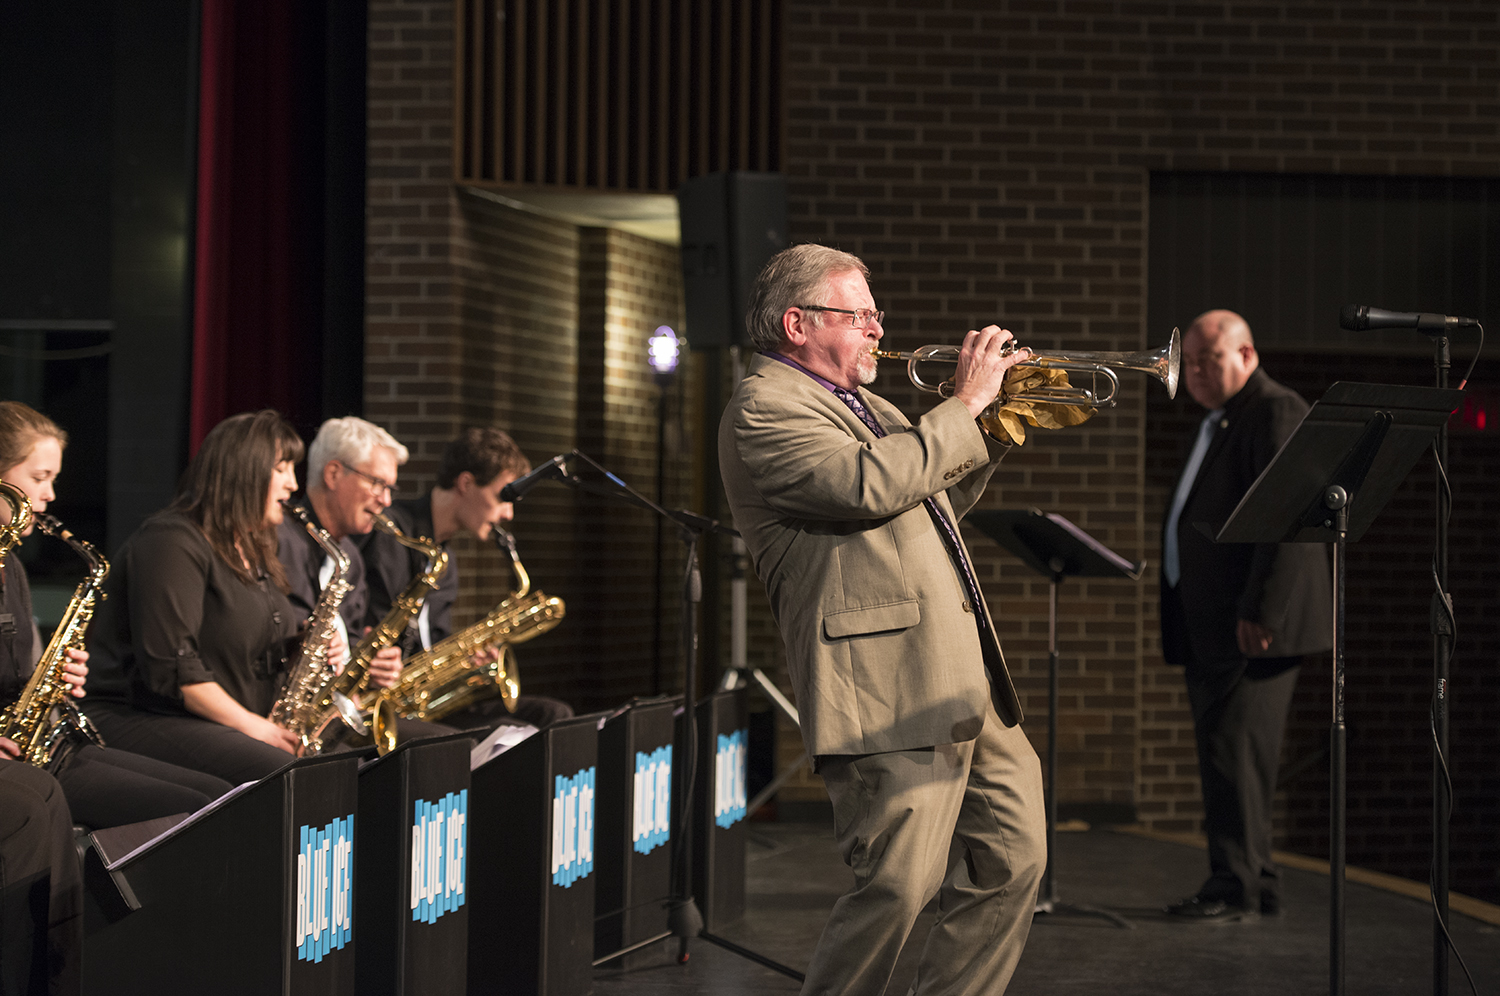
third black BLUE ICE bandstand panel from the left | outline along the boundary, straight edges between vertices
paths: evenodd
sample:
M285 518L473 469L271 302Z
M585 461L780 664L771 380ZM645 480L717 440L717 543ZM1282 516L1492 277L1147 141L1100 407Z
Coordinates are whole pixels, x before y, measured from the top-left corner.
M524 740L471 772L468 992L588 992L602 716Z

